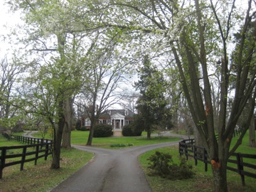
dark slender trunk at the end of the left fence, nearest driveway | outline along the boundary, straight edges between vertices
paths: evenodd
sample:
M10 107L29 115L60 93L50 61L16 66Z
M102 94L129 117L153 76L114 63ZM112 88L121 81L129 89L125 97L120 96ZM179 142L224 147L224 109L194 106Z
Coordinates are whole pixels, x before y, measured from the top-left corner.
M58 124L55 127L53 139L53 161L50 166L51 169L60 169L60 146L63 136L63 129L65 124L65 117L63 114L63 100L58 102Z

